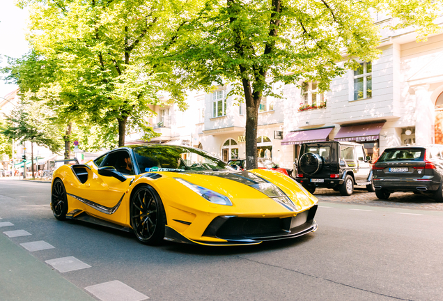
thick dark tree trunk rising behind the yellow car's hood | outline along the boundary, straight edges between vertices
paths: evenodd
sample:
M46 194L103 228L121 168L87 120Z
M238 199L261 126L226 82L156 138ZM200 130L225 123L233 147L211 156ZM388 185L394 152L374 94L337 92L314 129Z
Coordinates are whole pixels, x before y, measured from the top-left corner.
M256 169L257 165L257 124L258 106L261 98L254 99L251 83L242 79L244 100L246 102L246 169Z

